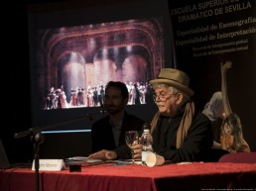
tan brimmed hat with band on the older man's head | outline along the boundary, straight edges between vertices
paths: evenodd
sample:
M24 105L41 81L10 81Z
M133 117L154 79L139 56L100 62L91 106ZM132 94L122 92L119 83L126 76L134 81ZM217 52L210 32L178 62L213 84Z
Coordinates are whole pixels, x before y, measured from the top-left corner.
M183 71L174 68L163 68L157 79L150 80L150 84L168 84L176 87L180 91L193 95L190 85L190 77Z

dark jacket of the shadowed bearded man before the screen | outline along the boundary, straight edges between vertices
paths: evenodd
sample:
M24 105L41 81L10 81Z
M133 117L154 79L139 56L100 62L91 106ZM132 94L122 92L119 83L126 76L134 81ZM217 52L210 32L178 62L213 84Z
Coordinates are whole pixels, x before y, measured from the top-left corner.
M141 134L144 123L145 122L138 117L125 112L120 129L121 134L119 139L119 145L116 146L112 133L110 116L107 115L106 117L95 122L91 127L91 152L95 152L101 149L109 149L115 150L119 158L131 158L129 147L125 143L125 132L136 130L139 131L139 133ZM126 152L128 152L129 154Z

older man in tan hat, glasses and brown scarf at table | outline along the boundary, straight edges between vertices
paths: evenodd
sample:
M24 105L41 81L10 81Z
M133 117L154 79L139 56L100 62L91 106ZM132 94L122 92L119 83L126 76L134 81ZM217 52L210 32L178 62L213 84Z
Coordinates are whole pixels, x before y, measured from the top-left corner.
M159 109L151 122L154 152L173 163L205 160L213 135L207 117L201 112L195 113L190 77L181 70L163 68L159 78L150 84ZM135 146L134 158L141 158L141 149L141 144ZM117 154L104 150L93 157L114 159Z

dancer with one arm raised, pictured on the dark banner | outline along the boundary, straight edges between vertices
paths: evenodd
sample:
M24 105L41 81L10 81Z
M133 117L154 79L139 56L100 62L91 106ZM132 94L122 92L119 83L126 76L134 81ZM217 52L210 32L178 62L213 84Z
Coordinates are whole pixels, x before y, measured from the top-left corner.
M243 138L242 125L237 114L233 113L227 96L226 72L232 63L220 64L221 92L215 92L202 111L211 121L214 135L213 148L222 148L229 152L250 151L249 144ZM221 120L220 129L217 121Z

